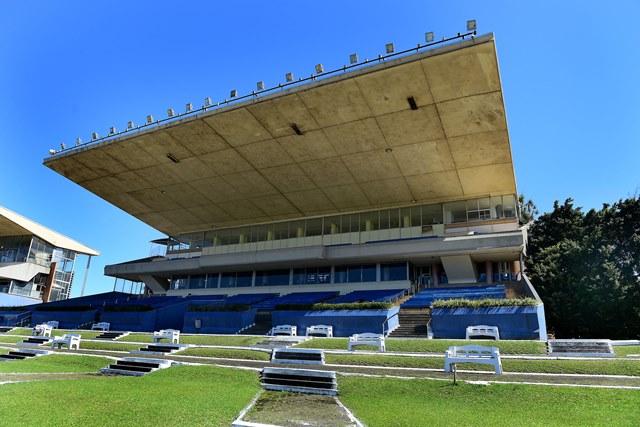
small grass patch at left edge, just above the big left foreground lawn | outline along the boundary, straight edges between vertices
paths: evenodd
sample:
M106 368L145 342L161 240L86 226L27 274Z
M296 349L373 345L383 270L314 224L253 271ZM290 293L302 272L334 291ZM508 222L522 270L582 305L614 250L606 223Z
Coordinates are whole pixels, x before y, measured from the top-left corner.
M0 373L26 372L98 372L111 359L93 356L66 356L51 354L25 360L0 363Z

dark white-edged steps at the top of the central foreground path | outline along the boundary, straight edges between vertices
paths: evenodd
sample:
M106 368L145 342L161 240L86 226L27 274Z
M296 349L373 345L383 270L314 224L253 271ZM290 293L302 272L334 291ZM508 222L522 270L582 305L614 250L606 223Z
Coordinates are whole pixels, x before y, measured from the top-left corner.
M338 394L336 373L307 369L264 368L260 372L262 387L294 393Z

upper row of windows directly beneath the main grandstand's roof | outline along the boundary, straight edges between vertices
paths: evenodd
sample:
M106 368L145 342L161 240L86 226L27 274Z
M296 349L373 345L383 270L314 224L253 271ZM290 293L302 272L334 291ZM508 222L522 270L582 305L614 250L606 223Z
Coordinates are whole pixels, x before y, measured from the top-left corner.
M211 246L402 229L443 223L489 221L515 218L515 216L516 204L513 195L493 196L189 233L171 237L168 250L171 252Z

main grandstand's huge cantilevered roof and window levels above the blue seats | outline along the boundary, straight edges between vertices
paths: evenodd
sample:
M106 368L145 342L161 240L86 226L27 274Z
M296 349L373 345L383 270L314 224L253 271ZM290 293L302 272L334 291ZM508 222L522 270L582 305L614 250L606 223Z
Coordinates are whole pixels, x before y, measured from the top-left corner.
M166 234L106 275L154 295L521 280L492 34L258 95L45 159Z

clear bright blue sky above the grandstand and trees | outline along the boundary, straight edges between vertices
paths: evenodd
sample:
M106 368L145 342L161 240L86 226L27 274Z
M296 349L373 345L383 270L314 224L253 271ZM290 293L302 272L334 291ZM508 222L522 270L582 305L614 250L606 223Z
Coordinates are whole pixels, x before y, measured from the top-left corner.
M466 30L496 37L518 191L541 212L599 208L640 188L640 2L6 1L0 14L0 205L99 250L163 237L42 165L50 148ZM79 296L85 259L76 265Z

